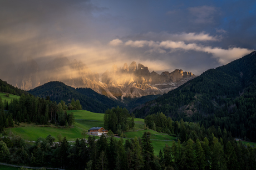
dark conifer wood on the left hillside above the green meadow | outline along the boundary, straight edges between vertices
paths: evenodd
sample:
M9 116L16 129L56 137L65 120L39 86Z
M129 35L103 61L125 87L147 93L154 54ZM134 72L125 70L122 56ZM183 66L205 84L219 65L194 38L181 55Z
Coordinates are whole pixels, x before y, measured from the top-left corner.
M80 102L73 100L68 107L65 102L52 102L49 99L41 99L32 95L22 94L19 99L14 98L11 102L6 100L3 102L0 97L0 131L4 127L13 127L15 123L35 122L38 125L48 125L57 123L61 126L71 126L75 121L73 113L67 114L68 108L81 109Z

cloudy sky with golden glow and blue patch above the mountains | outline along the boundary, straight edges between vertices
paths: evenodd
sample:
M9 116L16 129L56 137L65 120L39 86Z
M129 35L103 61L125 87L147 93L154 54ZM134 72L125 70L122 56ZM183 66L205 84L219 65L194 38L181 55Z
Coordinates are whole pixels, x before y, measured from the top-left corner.
M66 56L196 75L256 49L256 1L0 1L2 64Z

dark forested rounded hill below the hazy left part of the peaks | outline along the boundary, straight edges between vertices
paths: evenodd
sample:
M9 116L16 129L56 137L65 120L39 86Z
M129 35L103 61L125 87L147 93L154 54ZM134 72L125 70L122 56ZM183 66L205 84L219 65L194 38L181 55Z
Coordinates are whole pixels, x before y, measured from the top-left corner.
M122 106L121 102L97 94L97 92L91 89L75 89L60 81L51 81L42 86L38 86L35 89L29 90L28 92L39 97L50 96L50 99L57 103L63 100L68 104L72 99L78 99L82 105L82 109L92 112L104 113L105 110L110 109L111 107L116 107L117 105Z

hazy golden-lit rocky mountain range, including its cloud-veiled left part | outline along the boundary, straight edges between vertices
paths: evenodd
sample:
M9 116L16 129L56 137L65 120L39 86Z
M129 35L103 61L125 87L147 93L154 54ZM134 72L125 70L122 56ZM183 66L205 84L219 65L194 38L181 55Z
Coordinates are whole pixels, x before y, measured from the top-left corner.
M171 73L150 73L147 66L136 64L135 61L130 65L125 63L120 68L113 65L110 71L107 70L100 76L92 73L82 61L69 61L65 57L52 60L41 71L36 61L28 58L18 68L18 73L14 80L8 82L23 90L33 89L50 81L61 81L72 87L87 87L99 94L121 100L124 97L165 94L195 78L194 74L178 69Z

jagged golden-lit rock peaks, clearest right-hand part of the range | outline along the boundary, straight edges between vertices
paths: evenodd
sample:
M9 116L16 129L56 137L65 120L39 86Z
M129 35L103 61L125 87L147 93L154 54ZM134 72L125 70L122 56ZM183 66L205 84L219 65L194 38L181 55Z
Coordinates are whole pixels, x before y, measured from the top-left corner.
M195 75L183 70L175 70L171 73L165 71L160 75L133 61L127 71L126 63L119 69L112 69L102 74L102 83L115 97L141 97L146 95L164 94L193 79ZM117 68L113 66L113 68ZM117 71L115 71L117 70ZM126 70L126 71L124 71Z

